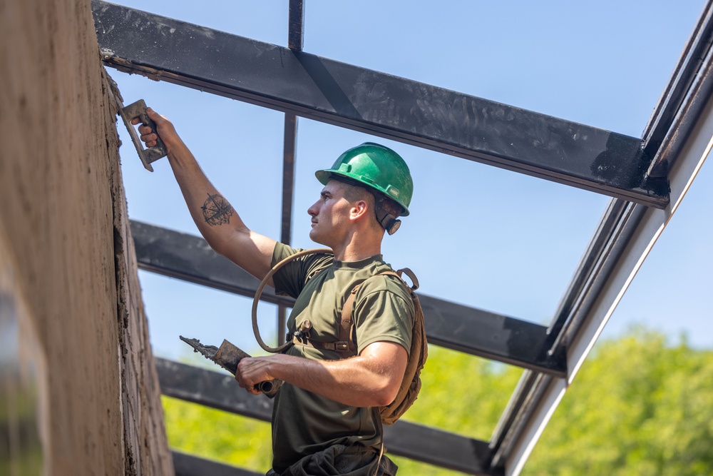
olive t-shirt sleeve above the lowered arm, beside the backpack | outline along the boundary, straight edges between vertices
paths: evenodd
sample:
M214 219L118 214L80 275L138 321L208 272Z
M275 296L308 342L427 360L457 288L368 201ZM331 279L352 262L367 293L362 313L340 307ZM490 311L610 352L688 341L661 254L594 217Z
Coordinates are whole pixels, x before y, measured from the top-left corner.
M354 305L353 315L359 352L380 341L400 344L407 353L411 352L415 311L414 301L405 292L369 290Z

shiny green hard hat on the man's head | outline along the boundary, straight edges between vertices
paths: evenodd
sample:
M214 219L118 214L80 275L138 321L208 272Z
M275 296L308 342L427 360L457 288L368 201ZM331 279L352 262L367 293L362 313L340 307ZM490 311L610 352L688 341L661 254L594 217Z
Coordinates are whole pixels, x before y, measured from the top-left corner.
M339 177L350 178L399 203L404 208L402 216L409 214L414 181L404 159L388 147L364 142L339 156L332 168L317 171L314 175L324 185L334 176L337 180Z

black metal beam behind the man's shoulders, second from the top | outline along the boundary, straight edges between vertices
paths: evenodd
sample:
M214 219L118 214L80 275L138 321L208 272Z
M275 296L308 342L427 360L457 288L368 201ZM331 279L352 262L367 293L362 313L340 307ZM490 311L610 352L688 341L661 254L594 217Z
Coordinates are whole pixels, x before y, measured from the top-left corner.
M215 253L205 240L187 233L131 221L139 268L251 297L257 279ZM292 307L291 298L266 288L267 302ZM558 377L566 375L563 355L548 355L547 328L524 320L419 295L429 343Z

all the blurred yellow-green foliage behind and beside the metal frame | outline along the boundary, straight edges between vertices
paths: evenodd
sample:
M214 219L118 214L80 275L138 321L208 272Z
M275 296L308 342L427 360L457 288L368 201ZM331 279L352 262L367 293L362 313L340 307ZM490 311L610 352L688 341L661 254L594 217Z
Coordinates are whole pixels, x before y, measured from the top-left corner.
M521 370L429 349L419 400L404 419L489 440ZM164 398L172 447L265 471L270 425ZM392 457L401 475L443 470ZM525 465L534 475L713 474L713 352L634 330L600 342Z

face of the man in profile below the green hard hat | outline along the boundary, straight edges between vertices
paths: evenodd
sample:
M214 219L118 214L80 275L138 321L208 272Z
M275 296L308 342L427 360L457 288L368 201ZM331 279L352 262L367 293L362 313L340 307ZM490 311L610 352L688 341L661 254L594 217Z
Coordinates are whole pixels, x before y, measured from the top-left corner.
M307 208L307 213L312 217L309 238L329 247L342 243L351 225L351 208L351 203L344 198L342 183L334 180L327 182L319 194L319 200Z

